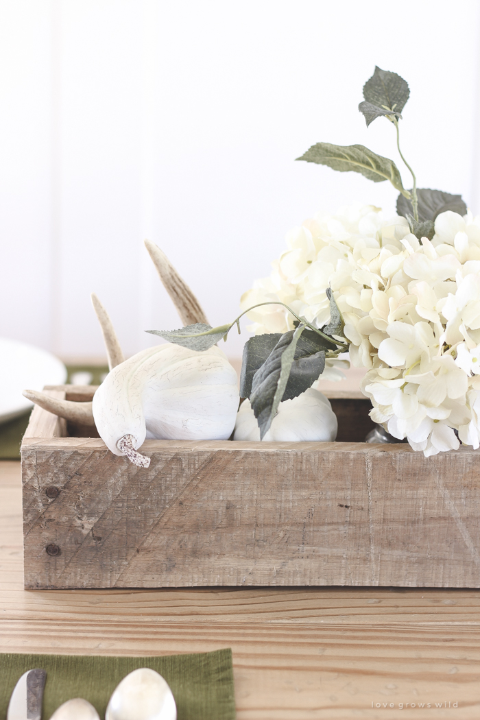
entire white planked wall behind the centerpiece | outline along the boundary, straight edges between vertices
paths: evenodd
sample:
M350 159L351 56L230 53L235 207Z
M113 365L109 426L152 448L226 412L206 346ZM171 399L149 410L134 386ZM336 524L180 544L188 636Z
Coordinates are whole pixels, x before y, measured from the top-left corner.
M219 324L305 217L393 211L387 183L294 162L320 140L398 160L357 110L376 64L409 82L420 186L479 213L479 45L478 0L0 0L0 335L102 355L94 290L133 354L179 325L143 238Z

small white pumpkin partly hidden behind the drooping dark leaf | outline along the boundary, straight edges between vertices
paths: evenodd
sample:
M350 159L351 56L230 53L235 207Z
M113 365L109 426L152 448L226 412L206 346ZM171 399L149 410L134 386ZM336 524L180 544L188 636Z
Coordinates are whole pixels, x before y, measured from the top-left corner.
M302 395L285 400L273 418L265 441L296 442L326 441L337 437L337 416L329 400L309 387ZM235 423L234 440L260 440L260 428L249 400L240 405Z

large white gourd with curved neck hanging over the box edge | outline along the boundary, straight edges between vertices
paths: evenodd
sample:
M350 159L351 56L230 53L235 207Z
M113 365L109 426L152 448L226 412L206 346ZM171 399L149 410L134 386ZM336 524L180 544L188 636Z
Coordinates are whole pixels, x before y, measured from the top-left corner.
M238 402L237 374L219 348L197 352L165 343L115 366L96 390L92 411L107 447L130 457L120 443L125 436L134 451L145 438L227 440Z

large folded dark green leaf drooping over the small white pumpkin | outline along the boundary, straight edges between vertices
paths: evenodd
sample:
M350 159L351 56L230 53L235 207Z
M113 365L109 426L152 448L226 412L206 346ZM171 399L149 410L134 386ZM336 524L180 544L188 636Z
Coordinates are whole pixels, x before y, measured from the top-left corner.
M289 352L282 362L288 348ZM261 438L268 432L279 403L291 400L311 387L325 368L325 351L335 349L333 341L326 341L314 330L305 330L304 325L281 336L253 376L250 403L258 420Z

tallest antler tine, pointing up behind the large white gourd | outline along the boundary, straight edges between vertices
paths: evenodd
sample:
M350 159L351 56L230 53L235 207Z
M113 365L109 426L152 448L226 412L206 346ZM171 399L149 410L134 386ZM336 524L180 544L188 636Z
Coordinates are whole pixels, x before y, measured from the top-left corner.
M153 260L153 264L160 275L160 280L173 300L178 315L184 325L194 325L194 323L207 323L204 311L201 309L199 301L196 299L189 286L181 279L178 272L168 260L163 251L150 242L145 240L145 247Z

